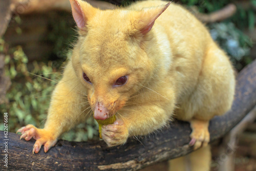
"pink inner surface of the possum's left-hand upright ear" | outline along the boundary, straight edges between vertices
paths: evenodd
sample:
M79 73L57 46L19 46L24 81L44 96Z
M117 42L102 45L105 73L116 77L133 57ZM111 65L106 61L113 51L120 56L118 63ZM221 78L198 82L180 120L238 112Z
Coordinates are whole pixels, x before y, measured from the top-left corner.
M72 6L72 14L75 19L76 25L79 29L82 29L85 26L85 18L84 14L80 8L80 4L77 1L73 1L71 3Z

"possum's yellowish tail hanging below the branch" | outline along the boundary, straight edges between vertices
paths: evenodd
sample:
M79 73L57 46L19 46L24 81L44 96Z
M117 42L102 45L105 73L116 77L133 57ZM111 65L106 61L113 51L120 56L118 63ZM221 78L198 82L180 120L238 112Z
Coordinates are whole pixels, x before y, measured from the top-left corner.
M209 171L210 163L210 145L207 145L186 156L169 160L169 171Z

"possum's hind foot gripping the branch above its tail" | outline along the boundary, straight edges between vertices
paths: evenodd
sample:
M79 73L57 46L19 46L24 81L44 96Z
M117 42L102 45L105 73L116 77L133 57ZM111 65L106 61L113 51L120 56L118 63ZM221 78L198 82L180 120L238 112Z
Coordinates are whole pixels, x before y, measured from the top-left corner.
M197 149L201 146L207 146L210 140L210 134L208 131L209 121L196 120L193 119L190 121L190 127L192 133L190 134L189 145L193 146L194 149Z

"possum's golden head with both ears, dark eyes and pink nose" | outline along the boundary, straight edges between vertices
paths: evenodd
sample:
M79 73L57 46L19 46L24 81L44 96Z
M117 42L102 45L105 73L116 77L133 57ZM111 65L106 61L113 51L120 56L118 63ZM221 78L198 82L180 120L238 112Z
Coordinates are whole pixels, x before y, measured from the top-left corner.
M94 118L104 120L154 75L157 64L147 54L147 44L155 19L169 4L141 11L102 11L80 0L70 3L79 29L73 68L88 90Z

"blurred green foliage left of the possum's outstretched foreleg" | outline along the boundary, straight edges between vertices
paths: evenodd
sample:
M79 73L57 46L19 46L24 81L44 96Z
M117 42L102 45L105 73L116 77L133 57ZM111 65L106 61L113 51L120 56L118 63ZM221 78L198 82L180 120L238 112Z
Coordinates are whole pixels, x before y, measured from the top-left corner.
M46 118L49 105L47 95L52 91L49 86L53 85L53 82L46 82L39 77L32 78L33 75L28 71L28 58L20 46L9 49L5 63L5 72L11 78L12 84L7 93L9 103L0 105L0 109L1 112L9 113L9 130L14 132L18 127L28 123L39 125L39 120ZM51 62L47 65L34 62L31 73L42 74L54 72L53 70ZM45 76L49 77L47 74ZM52 79L57 79L56 75L53 75ZM37 99L38 96L42 97Z

